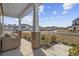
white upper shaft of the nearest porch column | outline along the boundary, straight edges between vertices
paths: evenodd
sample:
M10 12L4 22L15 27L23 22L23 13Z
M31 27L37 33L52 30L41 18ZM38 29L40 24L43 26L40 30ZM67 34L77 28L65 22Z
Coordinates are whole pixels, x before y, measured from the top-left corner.
M38 4L33 4L33 32L39 32Z

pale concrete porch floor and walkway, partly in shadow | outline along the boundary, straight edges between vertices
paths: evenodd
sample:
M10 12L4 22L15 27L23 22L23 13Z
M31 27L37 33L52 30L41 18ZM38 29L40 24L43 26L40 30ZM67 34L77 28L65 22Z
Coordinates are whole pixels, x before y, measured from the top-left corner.
M1 56L68 56L70 46L56 44L46 50L43 48L32 49L31 43L21 39L21 47L3 52Z

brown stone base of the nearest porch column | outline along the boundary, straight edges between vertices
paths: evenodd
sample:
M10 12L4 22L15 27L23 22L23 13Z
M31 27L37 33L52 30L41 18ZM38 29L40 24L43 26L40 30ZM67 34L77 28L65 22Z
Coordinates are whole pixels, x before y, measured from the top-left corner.
M40 47L40 32L32 32L32 48Z

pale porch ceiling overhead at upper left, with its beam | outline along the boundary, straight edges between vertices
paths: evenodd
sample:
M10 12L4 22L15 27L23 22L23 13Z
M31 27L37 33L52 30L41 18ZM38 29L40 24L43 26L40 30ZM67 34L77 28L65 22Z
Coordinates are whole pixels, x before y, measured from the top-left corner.
M4 16L22 18L32 10L32 3L3 3Z

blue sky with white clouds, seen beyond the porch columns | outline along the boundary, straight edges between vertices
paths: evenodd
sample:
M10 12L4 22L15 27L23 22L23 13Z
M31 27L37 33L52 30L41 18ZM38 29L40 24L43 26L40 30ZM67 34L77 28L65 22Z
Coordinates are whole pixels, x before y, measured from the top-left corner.
M67 27L79 17L79 4L75 3L44 3L39 7L39 25ZM32 25L33 13L22 19L22 24ZM5 17L5 24L18 24L18 19Z

